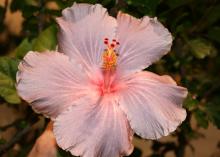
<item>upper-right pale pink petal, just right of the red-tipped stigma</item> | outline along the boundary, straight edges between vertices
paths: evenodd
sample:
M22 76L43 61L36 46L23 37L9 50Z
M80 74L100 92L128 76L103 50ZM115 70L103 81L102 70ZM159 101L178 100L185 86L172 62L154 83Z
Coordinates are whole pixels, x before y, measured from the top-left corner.
M170 50L172 36L156 18L145 16L142 19L136 19L120 12L117 21L120 73L140 71L159 60Z

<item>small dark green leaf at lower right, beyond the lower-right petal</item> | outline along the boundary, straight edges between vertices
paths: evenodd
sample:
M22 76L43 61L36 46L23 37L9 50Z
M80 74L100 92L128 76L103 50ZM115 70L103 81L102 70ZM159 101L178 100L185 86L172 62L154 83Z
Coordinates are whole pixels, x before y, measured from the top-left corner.
M200 109L195 110L193 113L194 113L193 115L196 118L198 126L207 129L209 123L206 113Z

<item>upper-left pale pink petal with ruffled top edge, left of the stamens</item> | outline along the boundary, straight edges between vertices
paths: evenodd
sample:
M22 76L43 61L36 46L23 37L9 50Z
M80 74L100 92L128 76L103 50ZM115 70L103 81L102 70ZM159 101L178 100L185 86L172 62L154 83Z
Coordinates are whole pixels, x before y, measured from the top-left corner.
M60 26L58 48L86 67L101 67L102 53L106 48L104 38L115 37L117 22L99 4L88 6L82 16L88 15L77 20L75 16L84 8L87 8L85 4L74 4L63 11L64 17L57 18ZM72 17L72 14L75 15Z

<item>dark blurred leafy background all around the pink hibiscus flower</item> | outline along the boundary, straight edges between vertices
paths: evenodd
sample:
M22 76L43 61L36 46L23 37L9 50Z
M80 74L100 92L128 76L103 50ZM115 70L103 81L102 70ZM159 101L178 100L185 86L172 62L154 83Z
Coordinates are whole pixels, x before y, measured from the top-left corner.
M48 122L17 95L19 60L29 50L55 49L55 17L73 0L0 1L0 156L24 157ZM159 141L135 139L133 157L219 157L220 1L219 0L78 0L101 3L115 16L157 16L174 37L171 52L148 70L171 75L187 87L188 116L177 131ZM208 130L208 131L206 131ZM206 138L208 137L208 138ZM214 140L210 141L210 138ZM203 140L201 140L203 139ZM199 142L203 141L200 145ZM207 142L204 142L207 141ZM210 142L210 143L209 143ZM140 149L141 148L141 149ZM199 152L204 152L201 154ZM147 153L146 153L147 152ZM188 154L188 155L187 155ZM193 155L194 154L194 155ZM58 149L58 157L70 156Z

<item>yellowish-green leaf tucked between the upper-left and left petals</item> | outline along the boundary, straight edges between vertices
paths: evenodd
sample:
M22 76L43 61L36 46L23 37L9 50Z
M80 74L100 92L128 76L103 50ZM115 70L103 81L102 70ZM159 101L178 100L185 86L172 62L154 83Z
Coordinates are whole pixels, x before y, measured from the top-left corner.
M57 28L52 25L45 29L33 42L34 51L54 50L57 44Z

